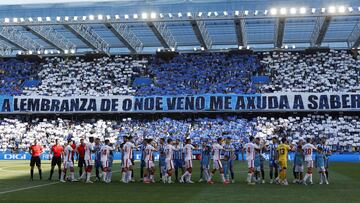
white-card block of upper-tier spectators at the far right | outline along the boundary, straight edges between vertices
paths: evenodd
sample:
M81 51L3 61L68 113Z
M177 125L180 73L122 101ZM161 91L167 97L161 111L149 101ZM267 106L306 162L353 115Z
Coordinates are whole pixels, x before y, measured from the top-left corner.
M271 83L262 92L359 92L360 57L347 51L264 53Z

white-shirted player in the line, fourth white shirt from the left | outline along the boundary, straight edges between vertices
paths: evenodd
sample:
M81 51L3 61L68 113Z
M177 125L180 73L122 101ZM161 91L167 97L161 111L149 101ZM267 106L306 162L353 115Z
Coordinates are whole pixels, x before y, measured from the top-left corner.
M128 183L131 181L131 173L132 173L132 162L131 159L133 157L133 149L136 147L134 143L130 142L130 137L124 137L125 144L123 146L123 172L122 179L123 183Z

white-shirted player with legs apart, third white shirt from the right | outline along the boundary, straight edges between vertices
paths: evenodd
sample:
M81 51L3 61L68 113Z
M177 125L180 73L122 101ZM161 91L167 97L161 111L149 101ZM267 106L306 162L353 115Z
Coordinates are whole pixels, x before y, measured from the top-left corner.
M212 153L213 153L213 170L209 176L208 179L208 183L209 184L214 184L214 182L212 181L212 177L214 176L214 174L216 173L217 170L219 170L220 172L220 176L221 179L223 181L224 184L228 184L229 182L225 179L224 176L224 170L223 170L223 166L221 164L221 150L224 150L224 147L221 145L222 143L222 138L219 137L216 139L216 143L214 143L212 145Z

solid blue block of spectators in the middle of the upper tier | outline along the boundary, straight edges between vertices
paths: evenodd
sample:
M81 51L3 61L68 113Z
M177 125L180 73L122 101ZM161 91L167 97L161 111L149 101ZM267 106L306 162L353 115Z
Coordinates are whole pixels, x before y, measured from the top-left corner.
M141 87L137 94L250 93L250 76L258 68L255 55L182 54L170 62L155 58L149 65L155 84Z

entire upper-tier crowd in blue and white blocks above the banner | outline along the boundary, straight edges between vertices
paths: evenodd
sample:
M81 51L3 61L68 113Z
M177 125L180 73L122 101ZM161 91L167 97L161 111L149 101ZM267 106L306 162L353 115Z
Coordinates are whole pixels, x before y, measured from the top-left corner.
M257 85L252 76L269 76ZM42 63L0 63L0 94L46 96L175 95L256 92L360 92L360 56L327 53L262 52L180 54L170 61L157 56L47 58ZM133 85L138 77L150 84ZM26 80L40 81L23 87Z

